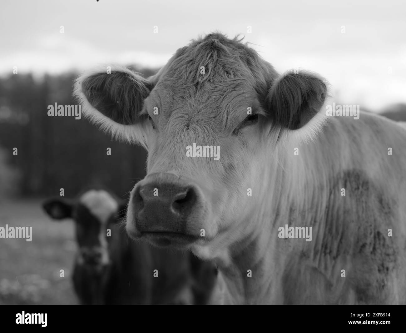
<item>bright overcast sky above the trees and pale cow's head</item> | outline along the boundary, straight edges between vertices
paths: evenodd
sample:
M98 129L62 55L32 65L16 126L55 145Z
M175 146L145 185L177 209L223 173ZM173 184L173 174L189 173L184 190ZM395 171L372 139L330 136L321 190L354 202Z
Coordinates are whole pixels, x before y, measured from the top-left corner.
M406 102L406 5L395 0L1 0L0 75L160 67L216 30L245 35L279 72L320 73L343 104Z

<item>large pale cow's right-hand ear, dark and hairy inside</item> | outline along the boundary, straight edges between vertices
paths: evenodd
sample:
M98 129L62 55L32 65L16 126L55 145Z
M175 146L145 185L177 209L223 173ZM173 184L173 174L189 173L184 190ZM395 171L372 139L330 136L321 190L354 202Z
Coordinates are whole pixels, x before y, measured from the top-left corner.
M327 96L326 81L310 72L289 71L276 79L268 94L274 125L297 130L319 113Z

